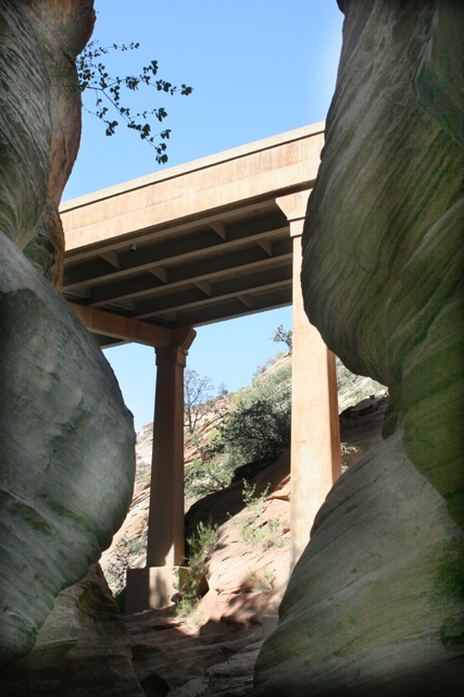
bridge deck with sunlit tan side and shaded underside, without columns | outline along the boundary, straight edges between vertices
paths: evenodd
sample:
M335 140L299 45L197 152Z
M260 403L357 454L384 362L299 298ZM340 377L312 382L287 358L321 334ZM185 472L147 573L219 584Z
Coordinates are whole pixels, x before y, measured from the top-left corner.
M323 132L314 124L63 203L63 294L100 345L135 338L108 334L102 312L120 327L172 331L291 304L292 241L276 198L312 188Z

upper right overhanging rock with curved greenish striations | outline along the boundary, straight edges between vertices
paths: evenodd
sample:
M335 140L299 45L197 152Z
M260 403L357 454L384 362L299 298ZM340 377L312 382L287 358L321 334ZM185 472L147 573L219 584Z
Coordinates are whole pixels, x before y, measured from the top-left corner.
M464 5L343 7L305 309L348 368L389 386L411 460L464 524Z

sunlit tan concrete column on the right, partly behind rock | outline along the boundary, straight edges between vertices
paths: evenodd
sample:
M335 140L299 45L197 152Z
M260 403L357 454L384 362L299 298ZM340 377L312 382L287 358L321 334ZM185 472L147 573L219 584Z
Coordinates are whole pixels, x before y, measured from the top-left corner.
M310 323L301 291L301 235L309 191L277 199L293 238L290 571L314 518L341 474L335 356Z

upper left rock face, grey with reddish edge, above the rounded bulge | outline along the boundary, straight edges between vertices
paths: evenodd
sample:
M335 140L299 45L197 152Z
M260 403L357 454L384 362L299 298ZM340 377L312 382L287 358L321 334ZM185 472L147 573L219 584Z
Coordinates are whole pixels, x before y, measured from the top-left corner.
M93 0L0 4L0 231L59 288L58 206L81 126L75 59L93 23Z

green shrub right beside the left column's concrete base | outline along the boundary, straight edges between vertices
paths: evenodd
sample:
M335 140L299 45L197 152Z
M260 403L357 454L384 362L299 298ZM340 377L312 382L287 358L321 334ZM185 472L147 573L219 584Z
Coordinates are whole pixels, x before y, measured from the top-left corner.
M205 525L200 522L197 525L197 534L189 537L187 543L190 547L190 557L187 574L183 577L180 588L181 600L177 603L176 614L190 617L195 622L201 624L202 617L198 612L198 601L201 597L201 586L205 575L206 562L216 544L215 525Z

